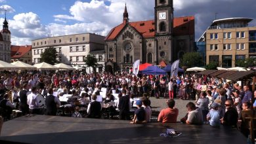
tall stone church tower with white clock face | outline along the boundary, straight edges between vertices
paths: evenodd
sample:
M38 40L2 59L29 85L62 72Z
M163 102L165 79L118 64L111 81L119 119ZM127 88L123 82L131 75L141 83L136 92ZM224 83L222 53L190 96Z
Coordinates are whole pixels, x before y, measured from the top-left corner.
M173 0L155 0L156 63L173 61Z

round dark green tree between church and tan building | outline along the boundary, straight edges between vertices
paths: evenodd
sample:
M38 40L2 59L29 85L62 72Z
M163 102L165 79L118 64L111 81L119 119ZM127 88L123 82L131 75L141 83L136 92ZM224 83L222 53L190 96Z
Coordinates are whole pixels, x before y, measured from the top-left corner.
M200 67L203 65L203 58L198 52L187 52L181 59L181 66Z

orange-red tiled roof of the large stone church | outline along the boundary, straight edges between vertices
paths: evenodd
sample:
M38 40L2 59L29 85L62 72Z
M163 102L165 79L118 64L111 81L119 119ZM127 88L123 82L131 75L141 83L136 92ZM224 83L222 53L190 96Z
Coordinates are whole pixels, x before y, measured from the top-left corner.
M134 27L142 37L154 37L155 36L155 24L154 20L129 22L130 26ZM110 33L106 36L105 41L111 41L116 39L120 31L125 27L125 24L111 29ZM173 20L174 35L192 35L194 34L194 16L184 16L174 18Z

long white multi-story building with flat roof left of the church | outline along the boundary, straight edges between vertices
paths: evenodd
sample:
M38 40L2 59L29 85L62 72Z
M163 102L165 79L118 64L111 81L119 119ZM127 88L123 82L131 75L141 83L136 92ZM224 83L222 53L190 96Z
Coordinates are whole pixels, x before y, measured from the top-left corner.
M96 67L98 72L104 67L104 54L102 54L102 51L104 53L104 39L105 37L94 33L35 39L32 41L32 62L40 63L41 54L45 49L54 47L58 52L58 61L72 66L86 67L85 57L93 54L98 58L98 67ZM87 67L87 72L89 71Z

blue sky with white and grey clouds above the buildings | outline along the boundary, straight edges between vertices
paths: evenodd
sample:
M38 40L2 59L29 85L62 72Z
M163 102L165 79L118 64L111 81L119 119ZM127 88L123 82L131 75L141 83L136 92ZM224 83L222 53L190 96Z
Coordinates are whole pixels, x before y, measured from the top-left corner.
M130 21L153 20L154 0L126 0ZM173 0L174 16L196 17L196 39L215 18L256 18L255 0ZM33 39L98 33L107 35L122 22L125 0L0 0L8 10L12 45L31 45ZM0 15L2 24L4 14ZM250 26L256 26L256 21Z

